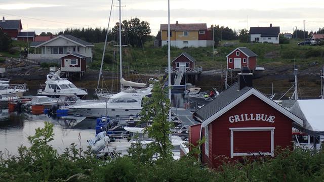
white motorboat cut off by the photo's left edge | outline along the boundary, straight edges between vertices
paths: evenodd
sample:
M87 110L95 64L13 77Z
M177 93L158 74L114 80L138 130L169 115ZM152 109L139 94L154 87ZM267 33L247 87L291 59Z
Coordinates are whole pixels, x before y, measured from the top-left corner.
M9 84L9 79L0 80L0 94L2 98L22 97L27 92L26 83L23 84Z

